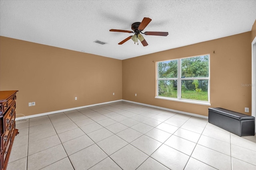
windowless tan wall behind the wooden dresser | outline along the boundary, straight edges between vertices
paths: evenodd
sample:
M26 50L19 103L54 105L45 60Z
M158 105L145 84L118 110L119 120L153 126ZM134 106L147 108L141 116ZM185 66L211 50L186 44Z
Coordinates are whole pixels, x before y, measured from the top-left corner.
M0 90L19 90L26 116L121 100L122 61L0 37Z

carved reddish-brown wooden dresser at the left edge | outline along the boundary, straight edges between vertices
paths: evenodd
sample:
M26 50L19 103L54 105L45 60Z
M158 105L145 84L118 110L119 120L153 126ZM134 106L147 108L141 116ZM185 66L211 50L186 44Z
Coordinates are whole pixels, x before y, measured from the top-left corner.
M18 134L18 129L15 129L16 92L18 91L0 91L0 170L6 170L12 144L15 136Z

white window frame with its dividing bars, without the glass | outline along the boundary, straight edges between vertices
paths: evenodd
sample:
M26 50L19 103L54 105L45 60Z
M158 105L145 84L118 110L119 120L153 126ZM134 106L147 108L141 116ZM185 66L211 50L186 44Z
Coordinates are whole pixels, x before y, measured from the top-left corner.
M192 57L184 57L180 59L172 59L172 60L166 60L166 61L174 61L178 60L178 75L177 78L158 78L158 63L164 62L164 61L158 61L156 62L156 99L163 99L163 100L172 100L177 102L185 102L185 103L192 103L192 104L201 104L201 105L207 105L210 106L210 54L208 55L208 64L209 64L209 76L208 77L196 77L196 78L181 78L181 60L182 59L188 59L193 57L200 57L204 55L197 55ZM177 98L169 98L169 97L162 97L158 96L158 80L177 80ZM181 98L181 81L182 80L208 80L208 101L202 101L202 100L190 100L190 99L184 99Z

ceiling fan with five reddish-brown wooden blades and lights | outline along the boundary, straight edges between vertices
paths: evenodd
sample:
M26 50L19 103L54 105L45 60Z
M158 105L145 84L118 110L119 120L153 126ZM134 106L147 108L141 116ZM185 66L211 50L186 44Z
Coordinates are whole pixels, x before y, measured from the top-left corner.
M150 21L151 21L150 18L143 18L143 20L141 22L134 22L132 24L132 30L133 31L126 31L126 30L121 30L121 29L110 29L109 31L124 32L124 33L135 33L134 35L132 35L130 37L127 37L126 39L124 39L123 41L118 43L119 45L125 43L129 39L132 39L132 41L134 41L134 44L135 44L135 43L138 43L138 39L139 39L143 46L147 46L148 45L147 41L144 39L144 37L140 33L142 33L141 31L143 31L145 29L145 27L150 23ZM146 31L142 34L144 34L144 35L167 36L168 32ZM138 45L139 45L139 43L138 43Z

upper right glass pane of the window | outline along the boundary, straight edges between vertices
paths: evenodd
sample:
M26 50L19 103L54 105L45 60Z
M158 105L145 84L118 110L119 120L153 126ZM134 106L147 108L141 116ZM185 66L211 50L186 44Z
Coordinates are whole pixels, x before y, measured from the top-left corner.
M209 77L209 56L181 59L181 77Z

